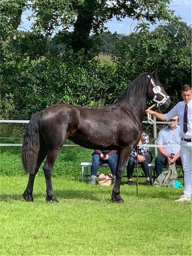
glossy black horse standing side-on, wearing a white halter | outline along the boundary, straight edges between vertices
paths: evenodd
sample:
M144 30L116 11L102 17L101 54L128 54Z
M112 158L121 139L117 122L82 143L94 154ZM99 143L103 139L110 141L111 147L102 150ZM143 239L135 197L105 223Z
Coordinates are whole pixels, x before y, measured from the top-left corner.
M56 104L32 116L25 130L22 149L23 167L29 173L26 201L33 201L35 175L47 156L43 171L47 201L58 202L52 187L52 170L56 157L66 140L100 150L118 150L116 182L112 201L123 202L120 182L125 163L141 135L147 98L169 106L170 99L158 81L156 71L140 74L111 105L88 109L69 104Z

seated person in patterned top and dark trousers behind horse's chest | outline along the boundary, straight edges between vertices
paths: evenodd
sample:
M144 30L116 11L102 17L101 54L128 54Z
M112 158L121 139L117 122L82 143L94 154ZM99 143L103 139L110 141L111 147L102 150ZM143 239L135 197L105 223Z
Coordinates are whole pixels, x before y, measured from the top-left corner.
M142 170L145 173L145 177L146 177L145 185L150 186L151 179L149 175L148 163L151 163L153 156L149 151L149 147L147 147L147 144L149 144L149 137L145 132L142 132L140 141L138 142L138 145L141 145L138 147L138 163L140 163ZM133 175L134 165L136 163L137 163L137 147L133 147L133 150L129 156L129 161L127 163L127 168L126 168L128 185L133 185L132 175Z

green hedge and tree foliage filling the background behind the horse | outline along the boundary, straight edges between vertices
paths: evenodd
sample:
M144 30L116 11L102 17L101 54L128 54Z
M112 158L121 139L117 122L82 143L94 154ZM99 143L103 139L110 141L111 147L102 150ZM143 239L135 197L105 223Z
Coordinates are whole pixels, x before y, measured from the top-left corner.
M26 120L33 113L58 103L102 107L113 102L140 72L153 71L157 67L160 81L174 103L179 100L181 85L190 84L191 27L179 22L177 18L169 25L160 25L154 32L144 30L129 36L103 33L99 36L103 41L101 47L108 47L99 48L95 44L92 49L89 48L88 54L84 54L83 49L75 52L70 47L71 32L60 32L54 39L47 38L42 33L51 33L53 24L59 24L64 12L70 13L66 22L71 23L76 12L84 12L86 1L41 1L41 6L40 1L33 1L36 19L32 33L16 31L21 11L29 8L26 2L2 2L1 39L4 43L1 45L0 118ZM110 7L107 15L106 9L102 12L102 6L107 8L108 2L97 2L95 29L99 17L104 17L105 20L111 13L122 18L129 14L134 2L131 1L130 6L124 1L114 3L116 11ZM154 3L145 1L148 10L154 10L160 18L161 7L161 15L166 18L165 6L162 5L167 1L159 2L159 5L155 1L154 7L152 2ZM70 3L73 9L70 9ZM95 2L92 7L95 8ZM139 11L139 6L137 7ZM53 13L51 10L54 10ZM151 19L154 17L151 16ZM167 14L167 18L170 17ZM62 19L65 20L65 17L62 16ZM73 22L75 25L75 21ZM49 27L50 24L52 28ZM38 25L40 34L35 30ZM96 41L98 40L94 37L94 42ZM111 55L106 56L108 59L101 55L93 58L95 49L110 51Z

